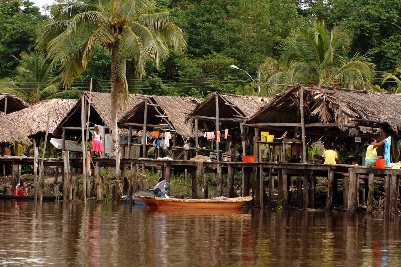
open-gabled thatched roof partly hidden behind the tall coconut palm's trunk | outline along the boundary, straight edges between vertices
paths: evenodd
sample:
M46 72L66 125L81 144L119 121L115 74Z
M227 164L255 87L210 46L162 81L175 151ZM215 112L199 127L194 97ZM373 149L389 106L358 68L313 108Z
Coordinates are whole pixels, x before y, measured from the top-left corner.
M91 95L91 111L89 117L89 126L93 124L104 125L111 129L111 93L98 93L98 92L84 92L80 99L71 110L64 116L56 128L57 134L61 134L61 127L81 127L81 103L85 99L86 103L89 101L89 94ZM126 111L132 109L136 104L144 100L143 96L130 94L128 104L122 106L117 110L117 120L119 120ZM119 130L119 134L126 134L128 131ZM75 133L77 134L77 133ZM75 134L70 134L74 136ZM80 132L79 132L80 134ZM68 134L67 134L68 135Z

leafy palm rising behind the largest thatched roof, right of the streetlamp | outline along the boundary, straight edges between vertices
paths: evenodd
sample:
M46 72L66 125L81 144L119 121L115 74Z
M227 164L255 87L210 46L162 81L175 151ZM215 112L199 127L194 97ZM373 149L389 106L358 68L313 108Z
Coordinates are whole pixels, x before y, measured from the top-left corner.
M377 89L372 85L376 65L358 53L348 57L353 34L344 22L329 30L323 21L296 26L292 38L284 42L279 69L271 73L264 86L275 83L306 83Z

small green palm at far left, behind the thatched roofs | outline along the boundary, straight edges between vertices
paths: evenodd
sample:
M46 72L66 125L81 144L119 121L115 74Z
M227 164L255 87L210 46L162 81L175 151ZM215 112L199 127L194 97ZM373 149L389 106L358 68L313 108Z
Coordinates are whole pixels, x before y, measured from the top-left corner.
M61 76L55 67L46 60L45 55L35 52L22 52L16 58L19 65L15 81L11 78L0 80L0 93L12 93L26 101L36 103L45 98L59 97Z

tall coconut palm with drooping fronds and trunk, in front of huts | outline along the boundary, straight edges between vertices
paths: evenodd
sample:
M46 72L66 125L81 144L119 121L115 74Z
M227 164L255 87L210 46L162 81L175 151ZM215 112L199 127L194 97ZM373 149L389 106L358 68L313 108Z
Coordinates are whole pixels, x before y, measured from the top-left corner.
M149 60L157 68L174 52L186 51L185 34L168 12L156 13L154 0L81 0L57 5L55 16L43 27L37 48L45 48L53 64L61 66L63 85L85 70L97 45L111 50L111 120L117 153L116 111L128 101L127 62L137 78L144 77Z

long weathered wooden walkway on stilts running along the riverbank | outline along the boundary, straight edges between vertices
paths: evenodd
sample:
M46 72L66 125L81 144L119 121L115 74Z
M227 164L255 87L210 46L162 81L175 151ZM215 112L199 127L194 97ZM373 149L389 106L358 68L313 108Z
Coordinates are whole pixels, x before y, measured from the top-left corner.
M34 158L29 157L0 157L0 164L33 165ZM116 160L111 158L94 158L93 163L97 167L113 166L116 167ZM71 167L82 168L82 158L45 158L45 166L62 167L63 181L68 181ZM67 168L66 168L67 165ZM290 183L292 177L296 177L296 199L298 205L303 208L314 208L315 178L316 176L328 177L326 210L332 208L337 194L338 178L342 178L343 183L343 206L348 210L348 216L355 214L356 206L359 203L359 180L362 179L365 185L364 201L367 203L367 212L373 209L373 193L375 180L385 184L385 216L394 219L397 211L397 196L399 194L399 178L401 170L367 168L365 166L354 165L325 165L325 164L302 164L302 163L244 163L244 162L203 162L202 169L195 162L189 160L156 160L149 158L122 158L119 160L120 168L131 168L131 184L135 184L136 170L142 165L145 168L158 168L162 170L162 176L170 180L171 170L186 170L192 177L192 198L198 198L197 175L203 172L203 187L205 188L205 198L208 197L208 173L217 174L217 195L223 194L223 174L227 174L227 197L234 197L234 178L235 172L243 172L242 188L243 196L248 196L250 189L254 197L254 204L263 206L263 195L265 186L263 180L269 177L269 186L267 188L267 199L271 201L273 190L273 177L277 177L278 200L282 201L284 208L289 207L290 201ZM19 180L20 168L13 167L13 185ZM344 175L348 174L348 175ZM360 176L360 177L358 177ZM291 178L291 179L290 179ZM70 178L71 179L71 178ZM66 186L66 185L65 185ZM68 185L65 187L68 190ZM130 194L135 188L130 188ZM70 198L71 199L71 198Z

